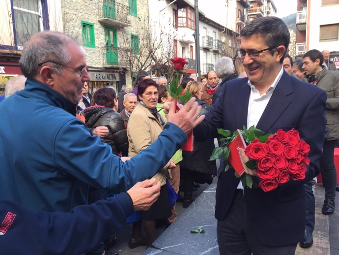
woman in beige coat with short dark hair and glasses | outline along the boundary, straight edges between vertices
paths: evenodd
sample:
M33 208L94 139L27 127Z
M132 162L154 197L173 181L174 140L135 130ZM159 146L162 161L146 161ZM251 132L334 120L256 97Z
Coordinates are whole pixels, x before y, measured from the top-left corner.
M154 142L163 130L165 122L157 111L158 84L152 79L145 79L138 85L139 104L133 110L128 121L127 136L129 141L128 156L134 157L143 149L146 149ZM159 152L161 153L161 152ZM154 155L157 157L157 155ZM142 225L147 234L147 245L151 246L156 239L155 220L167 219L171 214L169 203L169 193L166 185L167 171L175 164L169 161L159 172L153 176L161 182L160 196L148 211L141 212ZM129 240L130 248L143 245L143 238L140 231L133 227L132 237Z

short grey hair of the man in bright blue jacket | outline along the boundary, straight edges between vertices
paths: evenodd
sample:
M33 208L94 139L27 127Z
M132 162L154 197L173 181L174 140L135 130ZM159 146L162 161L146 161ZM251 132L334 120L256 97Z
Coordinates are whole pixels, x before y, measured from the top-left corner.
M58 73L63 68L59 64L67 64L71 61L71 56L66 50L66 46L75 43L80 46L77 39L61 32L43 31L34 34L24 45L19 61L22 73L33 79L41 68L42 63L49 61L58 63L48 63L53 65ZM40 66L39 66L40 64Z

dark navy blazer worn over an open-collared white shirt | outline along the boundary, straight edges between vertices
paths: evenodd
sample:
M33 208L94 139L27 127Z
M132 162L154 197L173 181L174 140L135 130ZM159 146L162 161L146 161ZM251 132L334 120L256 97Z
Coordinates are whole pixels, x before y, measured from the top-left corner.
M251 88L248 78L234 79L223 86L223 92L195 128L198 139L217 136L217 128L231 132L247 125ZM270 246L295 244L302 240L305 230L306 199L303 184L319 173L326 119L326 93L316 86L290 77L285 71L277 84L256 128L265 133L297 129L301 139L310 146L310 165L306 178L289 181L274 191L245 188L248 217L259 240ZM218 170L215 217L223 220L232 205L239 178L234 169Z

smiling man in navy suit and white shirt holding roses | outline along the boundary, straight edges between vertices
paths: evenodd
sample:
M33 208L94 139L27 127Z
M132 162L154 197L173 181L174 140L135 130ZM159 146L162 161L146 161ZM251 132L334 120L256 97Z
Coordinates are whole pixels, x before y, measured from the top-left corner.
M283 70L289 32L281 19L255 19L240 36L238 56L248 78L223 86L219 99L195 128L195 136L217 137L217 128L233 132L254 125L265 133L275 133L279 128L287 131L294 127L311 147L311 163L306 165L304 180L290 180L270 192L242 187L234 169L224 171L221 164L215 207L219 251L227 255L294 255L305 230L303 184L319 173L326 94ZM244 152L240 154L243 158ZM246 167L245 171L255 175Z

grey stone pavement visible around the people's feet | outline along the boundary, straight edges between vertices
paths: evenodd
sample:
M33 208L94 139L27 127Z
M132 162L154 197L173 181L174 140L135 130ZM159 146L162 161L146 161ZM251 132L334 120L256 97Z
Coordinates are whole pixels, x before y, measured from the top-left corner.
M216 182L216 178L215 178ZM117 233L117 244L110 250L118 252L119 255L192 255L206 254L218 255L218 244L216 234L216 219L214 218L214 197L216 184L202 185L194 192L198 198L195 202L183 209L178 204L178 219L165 230L158 228L158 239L153 243L159 249L147 249L138 247L128 248L128 238L131 233L131 224ZM326 216L321 213L324 200L324 188L317 184L315 188L315 229L313 232L314 244L309 249L298 246L296 255L339 255L339 192L337 192L337 210L333 215ZM193 229L201 226L204 234L190 233Z

